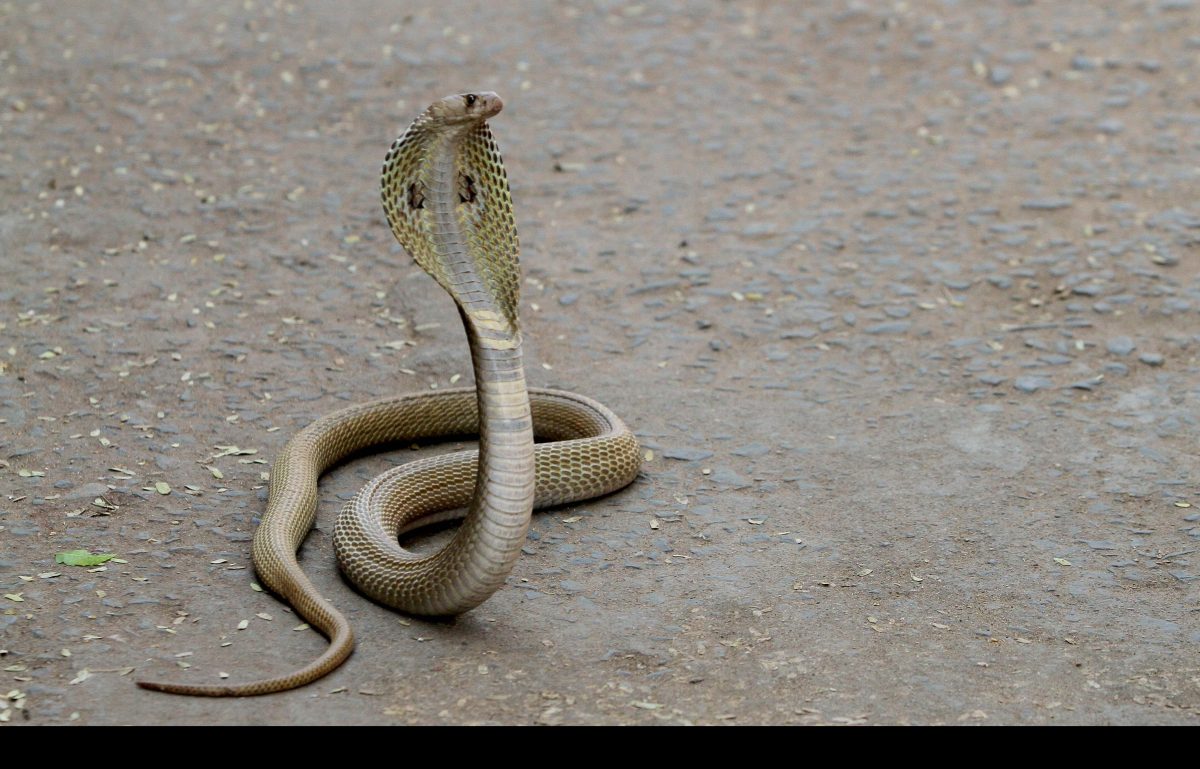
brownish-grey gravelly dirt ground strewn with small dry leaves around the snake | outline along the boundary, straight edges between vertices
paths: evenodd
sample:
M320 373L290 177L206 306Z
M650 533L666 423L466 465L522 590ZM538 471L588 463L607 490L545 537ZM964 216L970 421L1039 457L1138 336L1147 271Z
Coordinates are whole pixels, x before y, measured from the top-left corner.
M1195 722L1200 2L8 0L0 73L6 725ZM349 661L136 689L324 648L254 589L266 462L469 382L378 192L464 90L529 380L642 476L428 623L330 542L414 452L348 464Z

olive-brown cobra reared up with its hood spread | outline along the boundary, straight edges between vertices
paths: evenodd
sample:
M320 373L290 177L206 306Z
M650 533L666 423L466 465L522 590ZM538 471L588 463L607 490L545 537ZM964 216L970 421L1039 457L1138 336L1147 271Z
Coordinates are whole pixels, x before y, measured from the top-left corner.
M139 680L152 691L246 697L310 684L354 649L349 621L300 569L317 519L322 474L374 446L479 435L479 449L409 462L370 481L334 528L342 572L402 612L454 617L487 600L512 571L534 509L618 491L637 476L637 438L582 395L527 387L517 306L520 245L508 174L487 120L503 101L458 94L428 107L397 138L380 179L388 223L413 260L455 301L474 387L397 395L322 416L284 444L270 471L252 560L262 583L329 639L312 662L246 684ZM432 554L402 534L462 518Z

